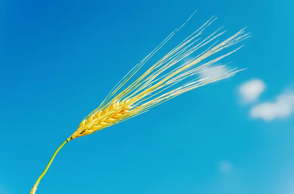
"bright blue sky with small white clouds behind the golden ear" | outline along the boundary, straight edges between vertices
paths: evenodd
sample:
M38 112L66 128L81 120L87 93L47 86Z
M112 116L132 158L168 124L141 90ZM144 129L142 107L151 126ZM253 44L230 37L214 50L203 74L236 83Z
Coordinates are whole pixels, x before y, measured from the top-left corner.
M247 70L68 143L37 194L293 194L294 2L0 0L0 194L28 194L129 69L210 17ZM156 58L158 59L158 58ZM151 65L151 64L148 64Z

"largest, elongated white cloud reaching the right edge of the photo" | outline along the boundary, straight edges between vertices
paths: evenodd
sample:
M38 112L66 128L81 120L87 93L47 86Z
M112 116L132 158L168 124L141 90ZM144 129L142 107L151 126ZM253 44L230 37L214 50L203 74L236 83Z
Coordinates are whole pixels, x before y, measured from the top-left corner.
M287 118L294 111L294 92L279 94L274 102L265 102L254 106L250 116L271 121L278 118Z

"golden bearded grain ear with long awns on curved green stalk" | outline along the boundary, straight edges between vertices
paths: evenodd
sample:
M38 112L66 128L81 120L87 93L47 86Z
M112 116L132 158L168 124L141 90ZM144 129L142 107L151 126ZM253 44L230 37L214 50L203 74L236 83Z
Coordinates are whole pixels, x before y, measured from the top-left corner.
M242 46L205 62L202 65L198 65L200 62L220 52L221 50L250 37L249 33L245 33L244 28L223 42L218 43L216 39L225 32L221 31L221 27L206 38L201 39L200 35L203 34L204 29L216 19L217 18L212 17L210 20L205 22L199 29L197 29L184 41L179 43L158 62L152 65L139 78L129 84L126 88L122 89L122 87L140 70L140 68L145 65L147 61L186 24L186 22L180 28L175 29L150 54L148 54L140 63L131 69L110 91L100 106L93 110L84 120L82 120L76 131L74 131L73 134L54 152L49 164L37 179L30 194L35 194L40 180L49 169L55 155L67 142L77 137L89 135L98 130L125 121L184 92L231 77L237 72L242 71L243 69L238 70L235 68L215 77L201 76L203 72L209 70L208 67L210 65L213 65L224 57L234 53ZM205 46L207 47L205 48ZM201 51L198 55L180 65L180 62L187 59L187 57L191 56L191 54L201 48L203 48L204 51ZM195 75L200 76L195 78ZM188 81L187 78L193 79ZM184 81L184 83L182 81Z

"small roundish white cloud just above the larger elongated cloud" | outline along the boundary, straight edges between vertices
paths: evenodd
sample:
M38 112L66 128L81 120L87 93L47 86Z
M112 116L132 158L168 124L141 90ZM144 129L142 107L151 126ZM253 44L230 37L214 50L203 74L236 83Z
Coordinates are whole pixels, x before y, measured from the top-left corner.
M265 83L260 79L252 79L239 87L239 93L245 103L252 103L258 99L266 89Z

